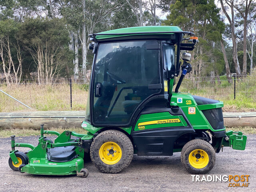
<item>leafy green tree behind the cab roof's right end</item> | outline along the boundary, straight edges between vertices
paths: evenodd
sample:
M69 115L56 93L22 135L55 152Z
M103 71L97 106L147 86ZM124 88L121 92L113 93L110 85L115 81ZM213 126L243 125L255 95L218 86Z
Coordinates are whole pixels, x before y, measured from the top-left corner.
M170 14L164 20L164 24L180 26L182 30L192 31L199 36L200 43L192 52L194 70L190 73L191 76L193 74L199 76L202 74L203 68L206 68L209 64L216 64L216 60L212 60L212 58L214 58L214 54L219 57L219 53L213 51L213 49L215 42L220 41L220 31L224 28L219 11L214 4L214 0L177 0L170 5ZM221 64L224 64L224 62L221 62ZM212 68L215 69L217 74L220 73L219 68L214 66Z

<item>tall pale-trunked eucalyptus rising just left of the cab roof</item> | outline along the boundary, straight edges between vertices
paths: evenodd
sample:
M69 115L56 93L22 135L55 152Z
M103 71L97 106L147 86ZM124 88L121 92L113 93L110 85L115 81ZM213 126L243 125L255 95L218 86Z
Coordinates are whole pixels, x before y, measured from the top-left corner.
M86 77L86 57L89 44L88 34L94 33L95 28L101 25L108 16L114 15L124 6L123 0L64 0L60 8L62 16L70 25L75 44L75 78L78 76L78 46L82 46L82 76ZM82 32L82 34L81 34ZM72 35L70 35L72 38Z

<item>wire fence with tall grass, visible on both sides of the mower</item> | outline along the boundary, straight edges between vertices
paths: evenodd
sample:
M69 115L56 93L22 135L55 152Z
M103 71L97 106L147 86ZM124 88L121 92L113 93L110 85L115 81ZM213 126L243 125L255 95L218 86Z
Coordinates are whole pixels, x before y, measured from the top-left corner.
M4 78L0 79L0 90L34 110L85 110L88 89L89 84L84 82L84 79L58 78L50 84L39 84L38 80L34 79L22 79L20 84L9 86ZM186 77L179 91L224 102L254 102L256 75L239 78L232 76L231 81L226 76ZM0 93L0 112L24 110L26 107Z

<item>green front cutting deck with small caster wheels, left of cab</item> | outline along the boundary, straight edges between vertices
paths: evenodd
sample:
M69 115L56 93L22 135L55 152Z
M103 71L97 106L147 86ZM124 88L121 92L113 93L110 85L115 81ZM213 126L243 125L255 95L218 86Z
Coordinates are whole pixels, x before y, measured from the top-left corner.
M38 146L26 143L16 143L11 136L12 151L10 151L9 166L14 171L40 175L73 175L87 177L89 172L84 168L84 149L81 147L81 137L76 132L45 131L41 125L41 136ZM55 134L54 140L44 134ZM71 139L71 136L76 138ZM15 147L30 148L28 152L19 152Z

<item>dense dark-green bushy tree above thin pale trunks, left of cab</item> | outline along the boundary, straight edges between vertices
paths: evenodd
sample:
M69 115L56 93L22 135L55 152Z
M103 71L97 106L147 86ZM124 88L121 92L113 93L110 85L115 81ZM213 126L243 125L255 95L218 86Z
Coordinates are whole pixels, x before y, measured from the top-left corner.
M44 50L45 57L53 60L52 67L58 65L60 76L70 76L67 68L73 67L72 52L68 50L69 34L63 19L28 18L21 25L18 33L19 40L24 44L26 52L30 53L35 60L39 50ZM38 58L37 58L38 60ZM49 60L49 61L50 61ZM43 60L43 62L48 62ZM28 69L30 70L30 69Z

